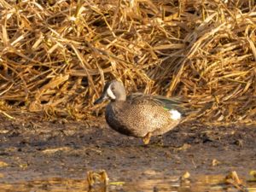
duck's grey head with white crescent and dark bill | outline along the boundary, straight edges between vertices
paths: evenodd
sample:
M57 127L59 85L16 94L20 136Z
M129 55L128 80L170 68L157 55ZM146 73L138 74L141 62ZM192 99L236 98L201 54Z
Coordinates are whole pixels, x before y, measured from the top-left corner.
M105 84L102 96L98 98L94 104L101 103L105 100L111 100L112 102L125 101L126 94L124 84L117 80L109 81Z

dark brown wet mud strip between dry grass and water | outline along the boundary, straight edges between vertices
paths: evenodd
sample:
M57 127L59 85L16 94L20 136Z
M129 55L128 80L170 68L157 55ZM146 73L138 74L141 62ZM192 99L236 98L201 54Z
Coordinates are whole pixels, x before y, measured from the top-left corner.
M184 123L145 146L140 139L109 129L102 118L75 122L14 116L0 116L0 183L84 179L86 172L101 169L113 182L184 172L193 178L236 171L246 178L256 169L255 125Z

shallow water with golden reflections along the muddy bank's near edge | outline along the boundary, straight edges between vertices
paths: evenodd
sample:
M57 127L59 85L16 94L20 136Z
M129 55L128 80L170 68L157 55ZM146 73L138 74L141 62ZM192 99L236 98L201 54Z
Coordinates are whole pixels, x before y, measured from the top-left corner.
M168 177L159 179L141 179L139 181L119 182L109 181L105 188L103 184L96 184L89 189L86 179L51 178L49 180L38 180L20 183L1 183L1 191L143 191L143 192L187 192L187 191L248 191L256 192L256 182L243 182L236 186L224 183L224 176L196 176L191 180L183 181L179 177Z

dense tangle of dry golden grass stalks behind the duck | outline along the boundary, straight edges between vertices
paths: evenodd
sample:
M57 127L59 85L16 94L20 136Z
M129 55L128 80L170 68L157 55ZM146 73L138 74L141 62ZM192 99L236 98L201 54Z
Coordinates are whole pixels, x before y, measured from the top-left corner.
M256 120L254 0L0 1L0 108L86 118L106 80Z

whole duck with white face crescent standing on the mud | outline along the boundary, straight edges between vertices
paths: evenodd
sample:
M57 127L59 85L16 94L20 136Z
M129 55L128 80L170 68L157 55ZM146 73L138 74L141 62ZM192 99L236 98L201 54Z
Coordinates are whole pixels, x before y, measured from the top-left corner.
M108 125L124 135L143 138L145 144L151 136L172 130L182 118L173 108L174 100L143 93L126 97L124 85L117 80L105 84L102 96L94 104L107 99L111 101L105 113Z

